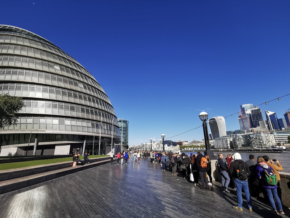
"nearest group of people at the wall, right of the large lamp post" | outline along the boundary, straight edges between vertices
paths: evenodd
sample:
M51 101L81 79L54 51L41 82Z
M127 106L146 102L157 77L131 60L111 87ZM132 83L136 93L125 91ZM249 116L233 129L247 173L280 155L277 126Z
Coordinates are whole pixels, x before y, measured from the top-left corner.
M229 192L229 185L236 190L238 202L236 206L233 206L234 209L243 211L242 190L244 190L250 211L252 211L251 196L260 198L262 192L264 198L269 199L271 203L271 212L284 214L278 172L283 168L278 160L271 160L269 156L258 156L255 162L255 157L250 155L249 160L244 162L239 153L228 154L225 160L223 158L222 153L218 154L216 166L221 174L224 191ZM275 162L277 165L274 164ZM274 198L278 204L278 210Z

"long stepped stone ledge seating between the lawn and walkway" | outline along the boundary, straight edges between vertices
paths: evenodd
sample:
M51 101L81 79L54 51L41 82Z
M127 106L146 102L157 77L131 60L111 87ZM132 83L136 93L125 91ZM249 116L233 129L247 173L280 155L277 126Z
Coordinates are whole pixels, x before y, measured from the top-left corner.
M90 164L72 167L72 161L0 171L0 194L28 187L81 170L110 163L110 157L91 158ZM114 159L116 161L116 159Z

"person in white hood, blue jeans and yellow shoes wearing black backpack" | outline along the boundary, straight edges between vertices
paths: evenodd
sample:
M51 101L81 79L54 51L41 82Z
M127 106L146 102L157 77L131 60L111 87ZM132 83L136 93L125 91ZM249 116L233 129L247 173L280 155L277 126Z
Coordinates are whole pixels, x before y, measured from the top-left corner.
M237 172L240 173L241 169L239 168L239 164L241 163L244 168L247 171L247 174L250 175L250 169L249 166L243 161L241 160L241 155L237 152L234 153L233 156L233 162L231 162L230 168L229 168L229 174L231 176L233 176L233 178L235 179L235 186L237 189L237 197L238 197L238 205L237 206L232 206L234 209L236 210L240 210L243 211L243 197L242 197L242 189L244 189L246 198L247 198L247 204L249 207L249 210L252 211L252 201L251 201L251 196L250 196L250 192L249 192L249 185L248 185L248 179L246 180L241 180L240 177L238 176ZM238 171L237 171L238 170ZM239 178L238 178L239 177Z

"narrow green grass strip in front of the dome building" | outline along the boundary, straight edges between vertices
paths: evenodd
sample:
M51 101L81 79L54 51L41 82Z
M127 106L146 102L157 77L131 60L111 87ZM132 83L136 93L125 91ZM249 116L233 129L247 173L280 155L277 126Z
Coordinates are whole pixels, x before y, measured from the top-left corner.
M108 155L90 155L89 159L92 158L100 158L100 157L108 157ZM80 159L83 159L84 156L80 156ZM21 167L32 167L37 165L43 165L43 164L51 164L51 163L60 163L60 162L66 162L66 161L72 161L73 158L55 158L55 159L46 159L46 160L30 160L30 161L22 161L22 162L13 162L13 163L2 163L0 164L0 170L4 169L16 169Z

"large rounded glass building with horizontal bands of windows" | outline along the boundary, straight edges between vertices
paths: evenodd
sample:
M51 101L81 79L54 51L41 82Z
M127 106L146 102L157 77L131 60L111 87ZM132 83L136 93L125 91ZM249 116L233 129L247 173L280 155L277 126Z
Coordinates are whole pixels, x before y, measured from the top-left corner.
M104 154L120 142L114 108L92 74L43 37L0 24L4 93L23 97L25 107L17 125L0 130L0 156Z

